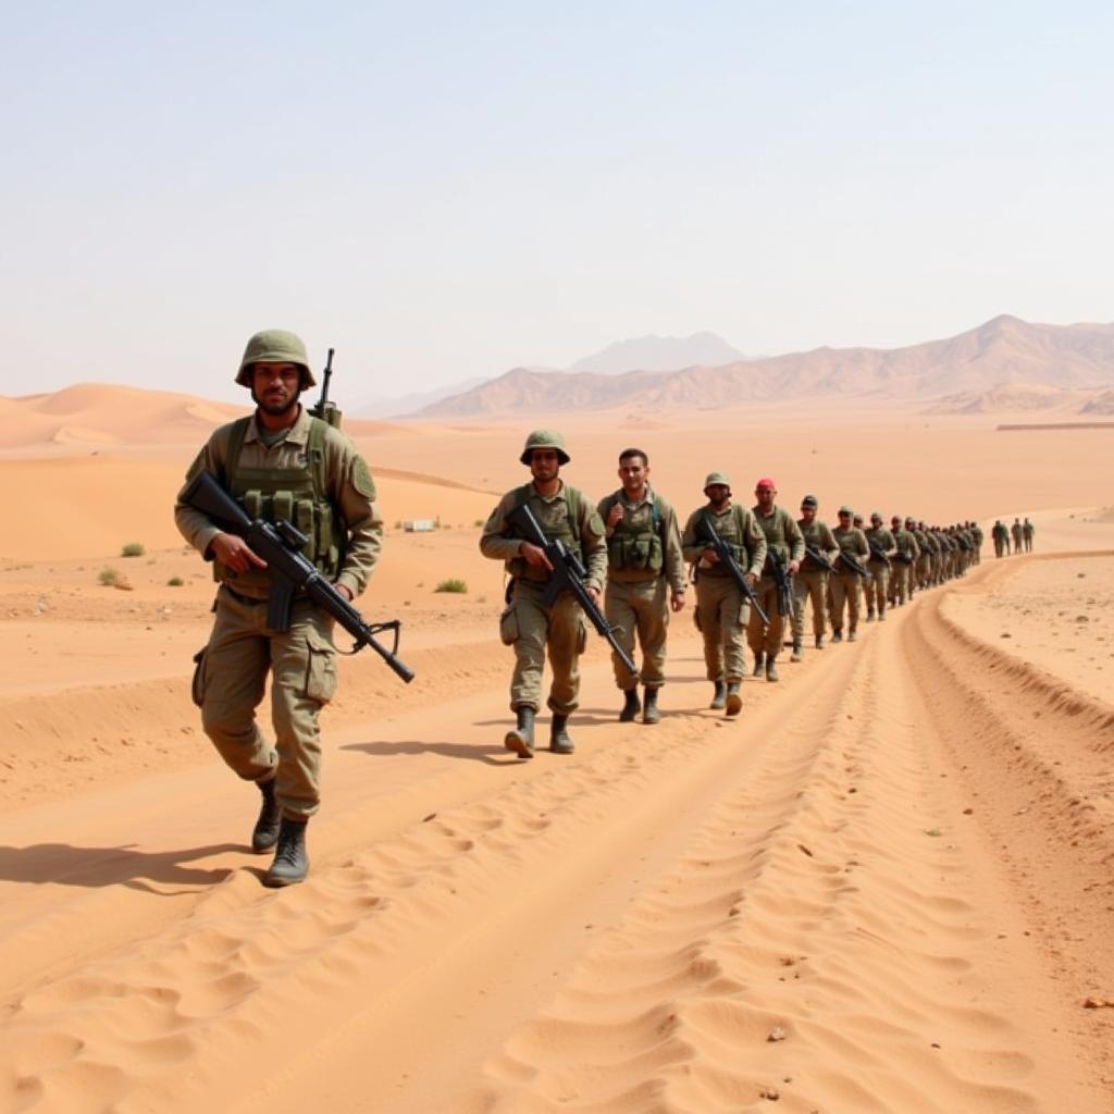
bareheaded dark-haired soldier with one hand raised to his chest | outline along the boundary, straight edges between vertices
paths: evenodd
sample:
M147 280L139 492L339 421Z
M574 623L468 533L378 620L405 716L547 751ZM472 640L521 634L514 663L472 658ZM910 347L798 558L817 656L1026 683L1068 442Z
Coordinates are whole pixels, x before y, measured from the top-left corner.
M616 637L633 657L635 631L642 646L642 683L646 703L638 703L639 675L612 654L615 683L624 694L619 720L631 723L642 711L643 723L657 723L657 691L665 684L665 635L670 608L685 606L685 560L673 507L649 487L649 458L642 449L619 455L623 487L599 504L607 530L607 587L604 609L617 627ZM668 602L666 602L668 594Z

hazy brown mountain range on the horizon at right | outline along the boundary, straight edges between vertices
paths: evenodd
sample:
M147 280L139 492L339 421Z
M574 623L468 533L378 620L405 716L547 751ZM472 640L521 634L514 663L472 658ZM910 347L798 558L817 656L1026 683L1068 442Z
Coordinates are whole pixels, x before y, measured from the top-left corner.
M929 400L1006 383L1062 390L1114 388L1114 324L1044 325L1003 314L957 336L900 349L820 348L717 367L624 374L515 368L427 405L417 416L461 418L619 405L646 412L824 395Z

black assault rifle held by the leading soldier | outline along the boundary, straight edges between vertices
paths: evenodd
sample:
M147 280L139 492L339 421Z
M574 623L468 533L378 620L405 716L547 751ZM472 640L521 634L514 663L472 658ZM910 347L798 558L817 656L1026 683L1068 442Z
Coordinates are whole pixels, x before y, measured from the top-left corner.
M364 646L370 646L407 684L413 681L413 670L397 656L399 628L402 626L399 619L364 623L363 616L343 594L302 555L301 550L310 539L292 522L265 522L260 518L252 520L240 504L205 471L198 472L189 481L182 501L219 522L231 534L242 537L267 563L272 576L267 626L272 631L290 629L291 602L295 590L302 589L317 607L336 619L355 638L350 653L354 654ZM394 645L390 649L375 641L375 635L383 631L394 633Z

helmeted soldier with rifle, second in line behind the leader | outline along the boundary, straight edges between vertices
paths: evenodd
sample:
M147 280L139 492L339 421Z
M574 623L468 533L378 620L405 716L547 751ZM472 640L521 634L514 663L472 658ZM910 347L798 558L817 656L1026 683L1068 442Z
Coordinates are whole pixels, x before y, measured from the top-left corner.
M576 711L580 691L577 665L587 639L584 613L568 592L551 605L543 602L553 565L540 546L522 539L511 516L529 505L546 537L564 541L579 556L587 570L585 586L596 603L607 574L604 524L587 498L560 478L561 466L569 462L560 433L535 430L527 437L519 459L530 469L532 479L499 500L480 537L480 553L505 561L510 575L499 629L502 641L515 647L510 707L516 725L507 732L504 744L520 759L534 755L534 717L541 703L541 671L548 647L553 668L547 701L553 712L549 750L571 754L568 717Z

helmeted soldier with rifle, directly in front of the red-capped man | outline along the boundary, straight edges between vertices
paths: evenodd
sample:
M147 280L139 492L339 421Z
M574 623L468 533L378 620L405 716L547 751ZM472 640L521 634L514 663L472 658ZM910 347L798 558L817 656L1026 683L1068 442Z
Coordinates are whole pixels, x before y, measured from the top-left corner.
M739 715L743 698L743 627L750 604L743 598L719 555L701 537L698 525L707 515L715 532L731 547L736 563L753 588L765 560L765 535L745 507L731 501L731 479L725 472L710 472L704 480L707 504L688 516L681 549L685 560L696 566L696 627L704 637L704 664L715 686L711 706Z

